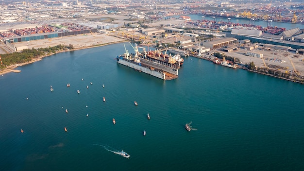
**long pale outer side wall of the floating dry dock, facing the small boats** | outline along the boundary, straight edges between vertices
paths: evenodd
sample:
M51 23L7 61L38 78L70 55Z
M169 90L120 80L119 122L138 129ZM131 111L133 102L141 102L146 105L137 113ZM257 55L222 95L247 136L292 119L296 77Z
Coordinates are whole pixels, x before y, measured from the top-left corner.
M124 66L127 66L129 68L134 68L135 70L144 72L144 73L152 75L154 77L166 80L166 73L164 73L164 72L161 72L161 71L158 72L158 71L155 71L155 70L151 70L149 68L145 68L145 67L139 66L139 65L137 65L135 63L128 62L128 61L123 60L123 59L121 59L119 57L117 57L117 63L121 64L121 65L124 65Z

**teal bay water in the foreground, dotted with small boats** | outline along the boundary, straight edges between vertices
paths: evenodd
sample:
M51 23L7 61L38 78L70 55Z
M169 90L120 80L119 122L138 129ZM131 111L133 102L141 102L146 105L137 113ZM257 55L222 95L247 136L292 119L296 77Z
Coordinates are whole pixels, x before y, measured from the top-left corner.
M163 81L117 64L123 52L58 53L0 76L0 170L304 170L304 85L193 57Z

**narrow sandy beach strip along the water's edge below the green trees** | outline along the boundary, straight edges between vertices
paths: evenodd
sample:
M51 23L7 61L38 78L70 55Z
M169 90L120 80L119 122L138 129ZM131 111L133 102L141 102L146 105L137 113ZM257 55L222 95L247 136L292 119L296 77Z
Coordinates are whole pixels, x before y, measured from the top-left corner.
M100 45L93 45L93 46L75 48L75 49L66 50L66 51L56 51L56 53L62 53L62 52L67 52L67 51L78 51L78 50L89 49L89 48L95 48L95 47L101 47L101 46L111 45L111 44L115 44L115 43L122 43L122 42L128 42L128 40L121 40L121 41L117 41L117 42L109 42L109 43L100 44ZM51 55L56 54L56 53L51 53L51 54L49 54L49 55L39 56L38 58L34 58L34 59L32 59L31 61L29 61L29 62L10 65L10 66L8 66L7 68L2 69L2 70L0 71L0 75L3 76L4 74L10 73L10 72L17 72L17 73L18 73L18 72L21 72L21 70L17 70L16 68L21 67L21 66L25 66L25 65L28 65L28 64L32 64L32 63L37 62L37 61L41 61L43 58L48 57L48 56L51 56Z

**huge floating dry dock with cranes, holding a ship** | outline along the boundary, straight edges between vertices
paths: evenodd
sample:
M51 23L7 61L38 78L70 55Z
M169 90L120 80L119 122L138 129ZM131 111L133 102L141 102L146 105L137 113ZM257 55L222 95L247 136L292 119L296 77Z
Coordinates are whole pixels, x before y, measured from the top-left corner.
M178 78L178 69L181 64L175 60L176 56L164 55L156 51L147 52L145 48L137 47L137 45L133 47L135 53L129 54L125 45L124 48L126 52L117 56L117 63L163 80ZM143 51L139 52L138 48Z

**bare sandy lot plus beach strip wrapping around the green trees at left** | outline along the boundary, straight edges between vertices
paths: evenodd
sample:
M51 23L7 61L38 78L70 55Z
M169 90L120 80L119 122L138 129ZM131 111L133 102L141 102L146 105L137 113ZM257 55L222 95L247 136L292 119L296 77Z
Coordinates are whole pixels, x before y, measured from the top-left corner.
M92 41L92 39L94 41ZM77 35L77 36L67 36L67 37L60 37L60 38L53 38L53 39L46 39L46 40L36 40L31 42L21 42L16 43L15 46L21 47L21 46L27 46L29 49L31 48L47 48L47 47L54 47L58 44L66 45L73 44L74 48L73 50L67 50L67 51L77 51L81 49L87 49L87 48L95 48L100 46L105 46L109 44L119 43L119 42L126 42L127 40L108 36L105 34L87 34L85 35ZM75 43L76 42L76 43ZM61 53L66 51L57 51L56 53ZM51 56L54 53L51 53L49 55L39 56L38 58L32 59L32 61L20 63L11 65L5 69L2 69L0 71L0 75L4 75L6 73L10 72L20 72L21 70L17 70L17 67L32 64L34 62L42 60L44 57Z

